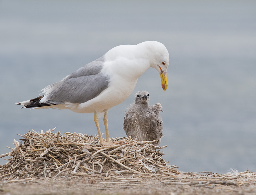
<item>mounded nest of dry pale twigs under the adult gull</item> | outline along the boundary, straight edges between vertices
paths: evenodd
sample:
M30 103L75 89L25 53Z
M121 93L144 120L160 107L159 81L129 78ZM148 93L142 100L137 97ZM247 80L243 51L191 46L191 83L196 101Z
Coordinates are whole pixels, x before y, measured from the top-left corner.
M53 129L54 130L54 129ZM14 140L15 148L0 158L9 156L5 165L0 165L0 180L31 177L104 176L125 173L173 176L178 173L161 158L163 153L151 144L153 141L134 140L131 137L112 138L116 143L101 146L99 137L69 133L64 135L29 131L21 142Z

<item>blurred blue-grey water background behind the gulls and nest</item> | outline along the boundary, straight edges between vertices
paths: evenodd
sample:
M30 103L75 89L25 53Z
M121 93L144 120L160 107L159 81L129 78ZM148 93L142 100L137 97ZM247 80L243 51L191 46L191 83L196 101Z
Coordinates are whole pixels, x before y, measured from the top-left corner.
M161 145L181 171L256 171L256 1L0 1L0 154L30 128L97 133L93 114L15 102L121 44L156 40L170 54L168 89L150 68L108 114L110 137L138 90L161 102ZM104 126L101 119L101 129ZM105 136L105 135L103 135ZM0 164L7 161L0 159Z

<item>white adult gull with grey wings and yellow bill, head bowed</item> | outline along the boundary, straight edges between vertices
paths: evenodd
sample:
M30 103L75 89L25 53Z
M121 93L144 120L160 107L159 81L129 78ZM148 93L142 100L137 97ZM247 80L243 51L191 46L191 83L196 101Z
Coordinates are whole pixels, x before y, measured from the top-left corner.
M137 45L120 45L109 50L59 82L42 89L37 98L23 102L23 108L70 109L78 113L94 113L94 121L102 145L110 142L108 110L122 103L133 92L139 76L149 67L160 73L162 88L167 89L169 53L157 41L145 41ZM97 113L103 116L106 141L102 138ZM102 114L101 114L102 113Z

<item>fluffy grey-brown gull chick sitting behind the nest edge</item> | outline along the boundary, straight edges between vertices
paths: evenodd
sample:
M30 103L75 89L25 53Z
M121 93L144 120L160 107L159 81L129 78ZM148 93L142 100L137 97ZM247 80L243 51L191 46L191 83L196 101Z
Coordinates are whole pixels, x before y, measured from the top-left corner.
M133 105L128 107L124 117L123 128L127 136L140 141L153 141L159 145L162 137L163 121L160 116L161 103L148 105L149 93L139 91L135 95Z

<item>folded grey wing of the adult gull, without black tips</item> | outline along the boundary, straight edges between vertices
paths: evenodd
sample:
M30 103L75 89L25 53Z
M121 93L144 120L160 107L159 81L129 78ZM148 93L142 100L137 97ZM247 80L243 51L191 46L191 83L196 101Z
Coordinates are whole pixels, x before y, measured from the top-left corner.
M49 95L49 100L83 103L98 96L109 85L109 76L101 73L104 57L84 65L68 75Z

